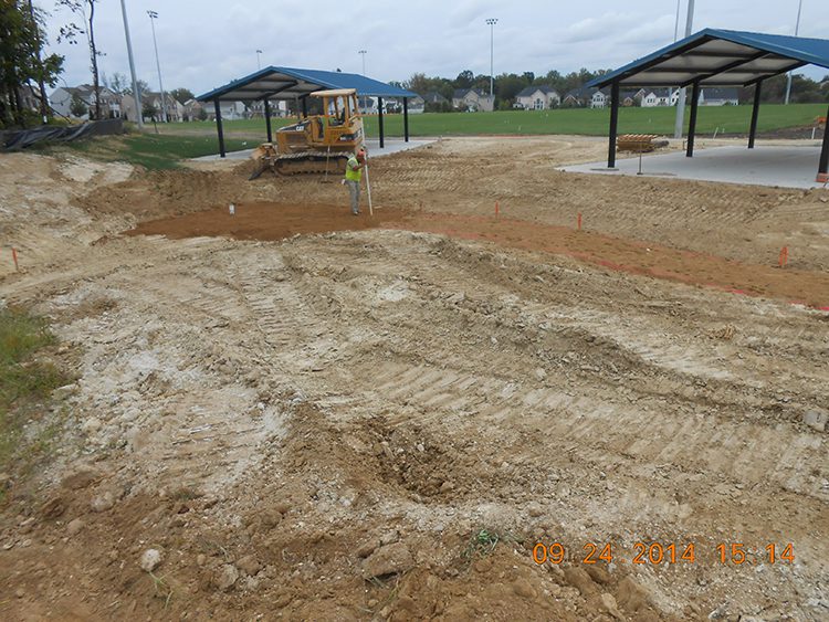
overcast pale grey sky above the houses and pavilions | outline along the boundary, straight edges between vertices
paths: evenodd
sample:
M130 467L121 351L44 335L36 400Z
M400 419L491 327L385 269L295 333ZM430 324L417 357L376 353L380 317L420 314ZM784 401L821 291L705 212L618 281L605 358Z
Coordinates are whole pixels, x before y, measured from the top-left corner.
M148 10L158 13L156 36L165 89L206 93L262 66L282 65L363 73L384 82L416 72L454 78L460 72L549 70L562 73L616 68L674 40L676 0L125 0L138 78L158 88ZM680 0L680 39L688 0ZM49 51L65 56L63 80L91 83L85 42L57 43L60 25L72 20L53 0L48 11ZM696 0L692 32L725 28L794 34L798 0ZM492 29L485 23L496 18ZM98 0L95 32L101 71L129 76L119 0ZM801 36L829 38L823 0L802 0ZM261 50L262 54L256 54ZM799 70L820 78L829 70ZM62 85L63 83L59 83Z

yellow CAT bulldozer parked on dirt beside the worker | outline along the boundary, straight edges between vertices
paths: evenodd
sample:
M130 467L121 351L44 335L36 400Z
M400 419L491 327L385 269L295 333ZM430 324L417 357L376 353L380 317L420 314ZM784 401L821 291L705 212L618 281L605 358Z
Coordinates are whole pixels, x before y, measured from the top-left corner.
M323 114L309 115L280 128L275 143L263 143L251 158L256 168L250 179L266 170L277 175L343 173L350 154L363 145L363 118L354 88L317 91Z

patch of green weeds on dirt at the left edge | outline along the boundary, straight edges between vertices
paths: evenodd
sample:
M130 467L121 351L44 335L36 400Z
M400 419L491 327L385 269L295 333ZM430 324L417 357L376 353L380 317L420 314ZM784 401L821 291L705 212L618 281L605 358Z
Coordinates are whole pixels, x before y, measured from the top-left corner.
M52 422L21 446L23 423L66 381L52 363L32 359L54 342L44 318L22 309L0 309L0 470L18 454L32 458L48 451L57 433Z

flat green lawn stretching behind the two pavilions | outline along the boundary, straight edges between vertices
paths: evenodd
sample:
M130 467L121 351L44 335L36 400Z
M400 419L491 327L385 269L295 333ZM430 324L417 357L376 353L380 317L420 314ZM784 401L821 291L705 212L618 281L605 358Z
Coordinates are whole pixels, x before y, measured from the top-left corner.
M689 110L690 112L690 110ZM688 127L689 112L685 114ZM812 125L815 117L825 116L826 104L791 104L789 106L766 104L760 107L758 130L770 131L785 127ZM619 131L625 134L672 135L675 108L622 108L619 112ZM718 133L747 134L752 106L701 106L697 114L699 134ZM384 117L387 136L401 136L402 115ZM409 116L411 136L473 136L492 134L580 134L606 136L610 120L609 109L560 108L555 110L510 110L495 113L428 113ZM293 119L273 119L273 127L282 127ZM366 117L369 137L378 135L376 116ZM214 133L212 122L196 122L171 125L162 131L176 134ZM224 122L225 137L234 134L246 137L265 136L263 119Z

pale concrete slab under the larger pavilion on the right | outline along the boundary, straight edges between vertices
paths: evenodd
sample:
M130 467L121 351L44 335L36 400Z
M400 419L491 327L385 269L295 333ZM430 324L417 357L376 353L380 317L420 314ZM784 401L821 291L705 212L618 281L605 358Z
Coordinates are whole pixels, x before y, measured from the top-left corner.
M697 179L781 188L822 188L817 183L820 145L746 147L710 147L696 149L693 158L684 151L649 154L642 157L647 177ZM563 167L568 172L600 175L637 175L639 157L617 159L618 170L607 168L607 160Z

